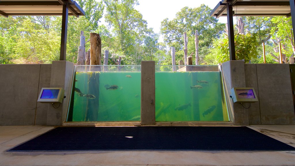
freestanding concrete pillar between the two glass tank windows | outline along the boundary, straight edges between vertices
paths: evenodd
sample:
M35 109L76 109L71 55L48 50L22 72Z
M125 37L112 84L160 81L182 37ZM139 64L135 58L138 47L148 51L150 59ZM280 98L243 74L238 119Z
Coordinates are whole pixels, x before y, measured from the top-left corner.
M155 125L155 61L141 61L141 125Z

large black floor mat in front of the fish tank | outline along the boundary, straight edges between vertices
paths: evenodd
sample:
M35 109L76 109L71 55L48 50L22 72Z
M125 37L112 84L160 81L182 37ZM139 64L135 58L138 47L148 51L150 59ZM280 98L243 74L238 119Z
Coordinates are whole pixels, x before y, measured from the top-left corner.
M58 127L8 151L295 150L240 126Z

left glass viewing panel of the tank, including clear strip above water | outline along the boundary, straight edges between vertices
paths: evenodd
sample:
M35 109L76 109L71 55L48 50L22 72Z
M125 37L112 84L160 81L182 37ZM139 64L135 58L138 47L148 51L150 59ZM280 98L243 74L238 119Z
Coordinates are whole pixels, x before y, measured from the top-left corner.
M140 121L140 66L75 66L67 121Z

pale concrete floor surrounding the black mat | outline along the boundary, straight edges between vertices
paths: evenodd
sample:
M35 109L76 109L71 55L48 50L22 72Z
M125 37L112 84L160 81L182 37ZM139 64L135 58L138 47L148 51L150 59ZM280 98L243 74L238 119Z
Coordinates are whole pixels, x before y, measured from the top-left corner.
M295 147L295 125L248 127ZM295 151L6 152L53 128L0 126L0 165L295 165Z

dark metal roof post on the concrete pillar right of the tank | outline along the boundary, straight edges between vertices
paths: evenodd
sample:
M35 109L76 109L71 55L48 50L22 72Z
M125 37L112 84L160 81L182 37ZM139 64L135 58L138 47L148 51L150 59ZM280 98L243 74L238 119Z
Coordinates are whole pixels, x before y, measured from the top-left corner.
M234 23L232 19L232 5L226 4L227 8L227 29L228 29L228 48L230 51L230 60L236 60L235 55L235 35L234 35Z

